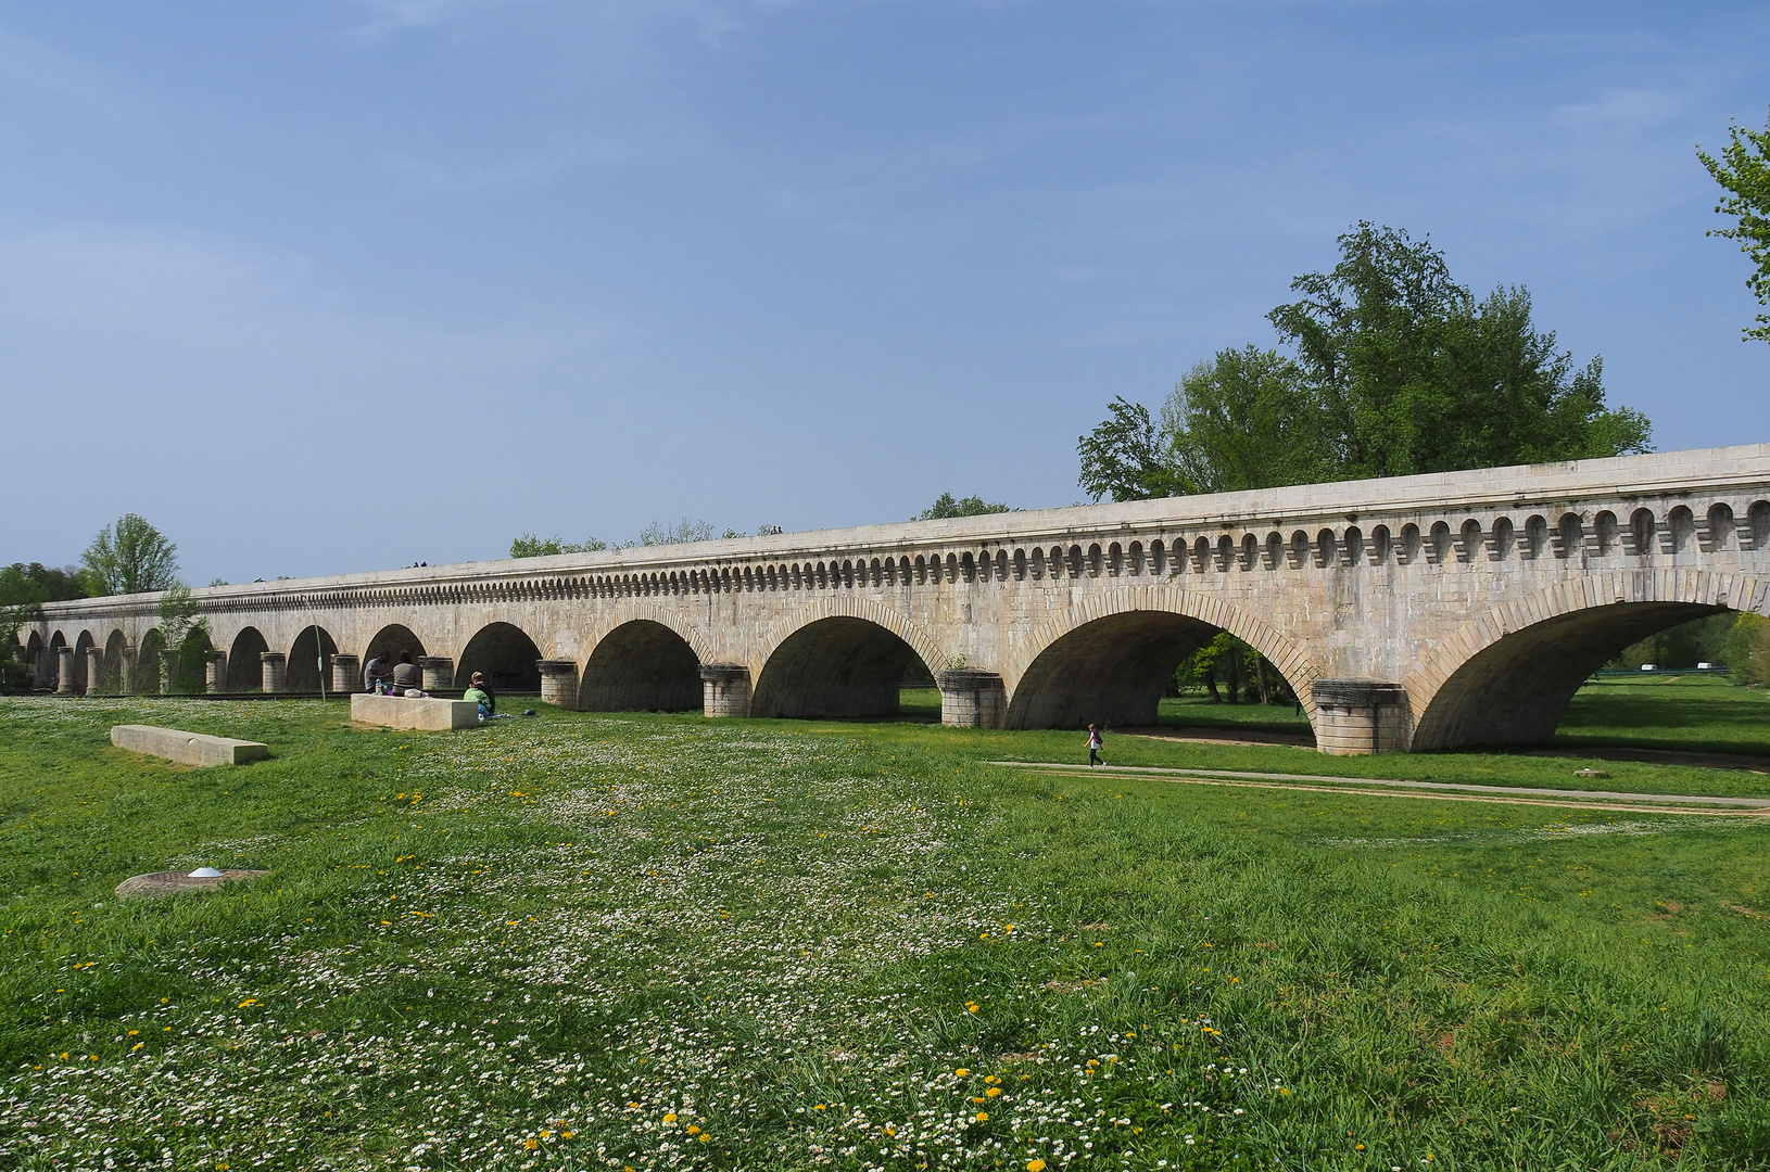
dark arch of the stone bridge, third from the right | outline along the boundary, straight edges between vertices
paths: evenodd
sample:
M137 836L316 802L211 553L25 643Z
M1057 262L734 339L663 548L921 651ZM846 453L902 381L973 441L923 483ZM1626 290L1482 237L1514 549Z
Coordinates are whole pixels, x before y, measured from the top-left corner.
M897 716L906 670L917 661L924 670L945 666L935 642L901 615L883 606L851 610L855 613L812 619L772 640L750 698L750 716Z

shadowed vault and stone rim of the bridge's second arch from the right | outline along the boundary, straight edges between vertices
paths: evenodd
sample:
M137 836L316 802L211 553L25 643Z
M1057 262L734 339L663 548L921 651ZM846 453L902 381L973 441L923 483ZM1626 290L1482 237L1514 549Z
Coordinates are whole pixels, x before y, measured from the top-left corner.
M1320 672L1301 647L1228 603L1142 587L1078 603L1034 633L1007 674L1007 727L1154 725L1175 668L1220 631L1266 656L1313 725L1310 681Z

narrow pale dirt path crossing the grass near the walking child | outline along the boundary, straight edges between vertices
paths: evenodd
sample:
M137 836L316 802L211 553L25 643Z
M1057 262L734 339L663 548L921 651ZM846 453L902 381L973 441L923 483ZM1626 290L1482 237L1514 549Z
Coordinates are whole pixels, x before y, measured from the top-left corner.
M1071 765L1060 762L1007 762L991 765L1032 769L1073 778L1136 778L1175 785L1228 785L1308 794L1352 794L1363 797L1428 797L1434 801L1501 803L1508 806L1558 806L1572 810L1621 810L1630 813L1701 813L1710 817L1770 815L1770 797L1713 797L1705 794L1623 794L1616 790L1551 790L1513 785L1464 785L1457 781L1395 781L1388 778L1329 778L1296 772L1239 772L1232 769L1163 769L1159 765ZM1306 785L1313 783L1313 785Z

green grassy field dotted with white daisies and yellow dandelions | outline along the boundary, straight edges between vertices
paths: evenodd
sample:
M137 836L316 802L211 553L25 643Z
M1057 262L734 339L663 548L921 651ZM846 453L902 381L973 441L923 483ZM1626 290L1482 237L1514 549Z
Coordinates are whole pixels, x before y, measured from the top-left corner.
M1085 758L1071 732L0 716L0 1167L1770 1167L1756 818L986 764ZM152 764L106 744L120 721L274 757ZM1108 757L1581 785L1559 758ZM205 863L271 873L112 894Z

